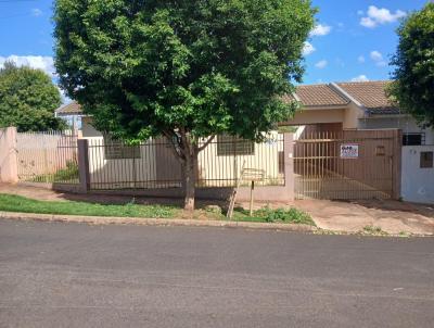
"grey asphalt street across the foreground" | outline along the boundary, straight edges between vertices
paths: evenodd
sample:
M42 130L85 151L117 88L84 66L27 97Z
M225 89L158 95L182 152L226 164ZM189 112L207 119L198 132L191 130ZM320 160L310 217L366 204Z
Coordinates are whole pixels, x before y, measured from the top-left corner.
M434 239L0 220L0 327L434 327Z

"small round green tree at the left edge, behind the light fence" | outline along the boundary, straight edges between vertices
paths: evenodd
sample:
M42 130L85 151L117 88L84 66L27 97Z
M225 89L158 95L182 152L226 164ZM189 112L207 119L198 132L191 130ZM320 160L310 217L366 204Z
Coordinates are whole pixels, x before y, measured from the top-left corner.
M16 67L7 62L0 70L0 126L18 131L62 129L65 123L54 117L61 94L50 76L40 70Z

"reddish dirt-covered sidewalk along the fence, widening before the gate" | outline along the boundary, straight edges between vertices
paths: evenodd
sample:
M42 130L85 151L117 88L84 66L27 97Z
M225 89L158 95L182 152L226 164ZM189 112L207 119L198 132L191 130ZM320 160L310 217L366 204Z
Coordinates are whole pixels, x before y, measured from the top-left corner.
M92 203L127 203L131 197L101 195L101 194L71 194L61 193L43 188L22 187L0 184L0 193L18 194L43 201L85 201ZM137 198L138 204L176 204L181 200ZM197 201L199 206L222 202ZM241 204L248 206L248 204ZM303 200L293 203L257 203L256 207L269 205L271 207L294 206L311 215L320 229L336 232L359 232L367 227L381 228L391 235L413 234L434 235L434 206L405 203L398 201L354 201L339 202L324 200ZM219 223L221 224L221 223ZM276 226L273 226L276 228Z

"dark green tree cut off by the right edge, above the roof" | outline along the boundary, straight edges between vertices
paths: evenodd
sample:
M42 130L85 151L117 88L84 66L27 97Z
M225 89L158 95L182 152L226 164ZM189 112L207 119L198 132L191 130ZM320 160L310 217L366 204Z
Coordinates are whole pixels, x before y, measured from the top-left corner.
M388 94L420 124L434 126L434 3L405 20Z

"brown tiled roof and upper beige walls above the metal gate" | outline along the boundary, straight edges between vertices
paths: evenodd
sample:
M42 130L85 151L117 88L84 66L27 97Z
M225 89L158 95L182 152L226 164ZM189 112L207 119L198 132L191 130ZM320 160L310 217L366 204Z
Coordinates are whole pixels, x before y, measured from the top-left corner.
M316 125L321 130L403 130L403 144L434 144L434 131L391 104L385 94L390 81L332 83L299 86L295 99L303 111L281 125Z

